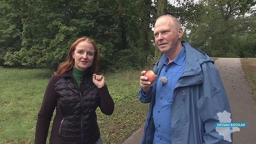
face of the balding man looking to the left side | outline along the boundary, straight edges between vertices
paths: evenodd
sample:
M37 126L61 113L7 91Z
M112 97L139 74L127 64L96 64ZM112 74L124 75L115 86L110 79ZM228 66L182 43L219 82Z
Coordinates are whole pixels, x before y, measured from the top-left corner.
M164 16L156 21L154 36L156 47L163 53L175 52L183 35L182 28L175 28L171 17Z

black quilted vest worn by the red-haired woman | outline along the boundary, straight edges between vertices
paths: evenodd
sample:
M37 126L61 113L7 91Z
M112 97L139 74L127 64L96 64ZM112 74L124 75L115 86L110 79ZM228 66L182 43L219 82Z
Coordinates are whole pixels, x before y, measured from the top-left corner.
M64 116L57 144L95 144L100 136L95 112L100 96L92 82L92 74L83 76L80 90L70 75L64 75L55 84L55 89Z

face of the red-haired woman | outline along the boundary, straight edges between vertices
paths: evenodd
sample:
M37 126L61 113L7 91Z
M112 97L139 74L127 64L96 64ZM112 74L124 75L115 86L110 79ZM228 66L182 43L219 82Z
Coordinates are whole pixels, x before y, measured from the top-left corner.
M86 41L78 43L72 54L72 57L75 60L74 66L80 70L86 70L92 66L94 52L95 50L91 43Z

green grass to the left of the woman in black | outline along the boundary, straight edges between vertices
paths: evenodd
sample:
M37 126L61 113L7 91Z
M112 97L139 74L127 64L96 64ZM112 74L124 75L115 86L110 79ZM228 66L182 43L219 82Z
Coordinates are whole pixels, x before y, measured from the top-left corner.
M0 68L1 144L33 143L37 113L50 76L43 69Z

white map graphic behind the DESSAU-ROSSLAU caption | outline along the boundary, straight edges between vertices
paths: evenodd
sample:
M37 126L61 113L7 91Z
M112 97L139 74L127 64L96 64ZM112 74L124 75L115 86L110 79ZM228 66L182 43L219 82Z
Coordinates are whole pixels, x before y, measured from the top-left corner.
M217 116L219 117L220 123L231 123L231 118L230 118L231 113L227 111L218 112ZM220 136L224 137L224 140L228 140L229 142L232 142L231 133L239 132L240 128L232 127L232 129L230 129L229 127L216 127L215 130L219 132Z

